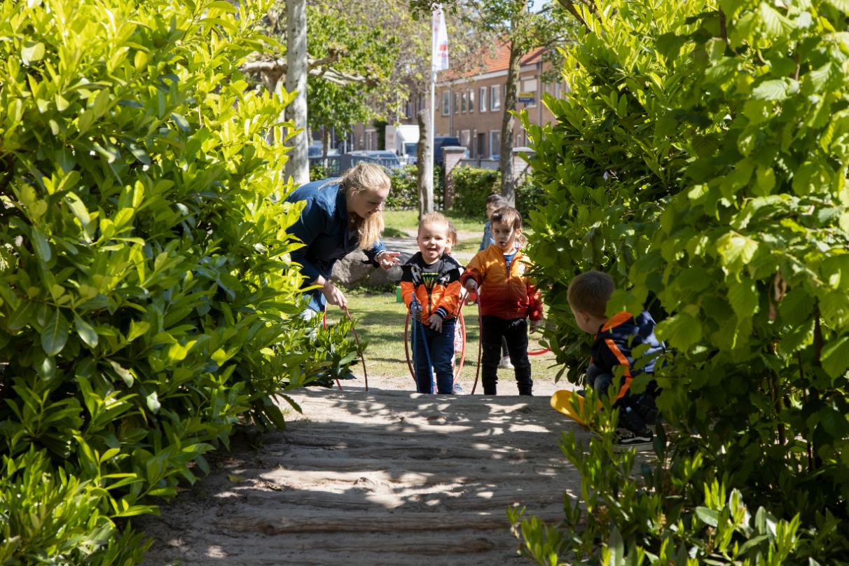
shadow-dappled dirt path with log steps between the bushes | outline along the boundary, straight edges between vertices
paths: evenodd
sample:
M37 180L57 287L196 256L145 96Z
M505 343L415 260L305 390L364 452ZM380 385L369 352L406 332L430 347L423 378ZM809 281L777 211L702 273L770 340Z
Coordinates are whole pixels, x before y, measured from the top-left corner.
M134 522L155 538L144 564L527 564L505 507L559 521L580 490L557 445L574 423L548 395L293 396L304 415L285 431L234 437L203 482Z

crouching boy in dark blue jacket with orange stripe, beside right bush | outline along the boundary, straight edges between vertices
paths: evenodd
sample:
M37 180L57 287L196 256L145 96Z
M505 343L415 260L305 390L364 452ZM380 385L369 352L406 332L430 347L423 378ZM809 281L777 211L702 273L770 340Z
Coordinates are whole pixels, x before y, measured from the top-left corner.
M614 382L614 367L627 366L624 383L616 395L615 407L619 409L619 427L616 429L616 451L635 448L637 451L651 450L651 430L646 425L655 424L658 416L655 397L657 382L652 380L645 391L634 395L629 390L631 381L640 373L654 373L655 360L644 367L633 367L631 352L641 344L649 345L644 356L663 350L655 338L655 321L648 311L632 317L620 312L612 318L604 315L607 301L616 290L613 277L603 272L586 272L575 277L566 291L566 300L575 314L578 328L594 333L592 362L587 368L587 381L599 395L608 395Z

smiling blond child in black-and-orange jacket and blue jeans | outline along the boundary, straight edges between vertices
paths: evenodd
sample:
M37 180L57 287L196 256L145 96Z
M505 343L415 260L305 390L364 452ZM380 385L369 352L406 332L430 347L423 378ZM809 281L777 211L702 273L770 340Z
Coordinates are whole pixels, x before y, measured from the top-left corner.
M429 212L419 222L419 253L402 265L401 293L404 303L420 317L424 327L416 328L412 345L415 355L416 388L432 393L432 375L436 374L436 392L451 395L454 375L454 325L460 306L460 264L445 253L448 221L439 212ZM417 305L413 305L415 294ZM413 324L419 321L413 319ZM425 344L427 350L425 350ZM433 367L428 367L428 356Z

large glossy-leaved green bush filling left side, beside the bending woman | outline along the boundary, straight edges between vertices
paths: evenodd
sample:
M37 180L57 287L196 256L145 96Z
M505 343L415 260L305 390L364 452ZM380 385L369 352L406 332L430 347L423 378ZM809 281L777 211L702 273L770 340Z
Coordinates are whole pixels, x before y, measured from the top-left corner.
M264 9L0 5L0 563L138 562L112 519L357 356L296 317L290 97L238 71Z

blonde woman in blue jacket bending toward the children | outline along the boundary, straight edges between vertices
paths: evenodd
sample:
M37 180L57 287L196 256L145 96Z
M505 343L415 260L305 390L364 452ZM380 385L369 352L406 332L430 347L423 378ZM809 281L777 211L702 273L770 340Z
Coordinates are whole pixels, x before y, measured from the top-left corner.
M362 249L373 266L389 269L400 260L398 252L386 251L380 240L383 232L381 205L389 196L391 182L383 170L360 163L345 177L308 182L295 189L287 202L304 202L301 219L286 231L304 243L292 252L292 261L301 264L310 310L321 312L325 302L346 308L345 295L330 283L336 260Z

